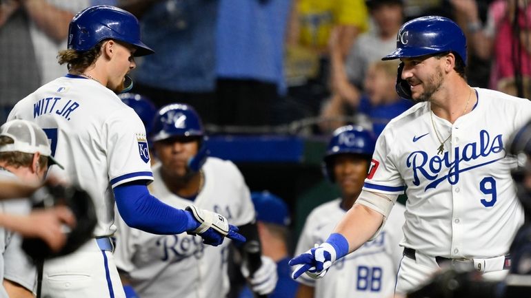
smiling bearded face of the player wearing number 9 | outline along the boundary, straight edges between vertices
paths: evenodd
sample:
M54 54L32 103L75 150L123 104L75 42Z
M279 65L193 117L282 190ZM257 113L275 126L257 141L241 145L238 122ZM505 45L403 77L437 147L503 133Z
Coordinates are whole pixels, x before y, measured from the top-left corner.
M401 58L401 61L404 63L402 79L410 85L412 99L415 102L431 100L443 86L445 59L430 55Z

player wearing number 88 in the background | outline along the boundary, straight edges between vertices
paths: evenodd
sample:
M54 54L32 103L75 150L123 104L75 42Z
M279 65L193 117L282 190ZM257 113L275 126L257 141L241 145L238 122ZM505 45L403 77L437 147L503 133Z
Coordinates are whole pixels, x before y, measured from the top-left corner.
M375 142L374 135L361 127L348 125L334 131L325 154L324 168L328 178L341 188L342 196L317 206L308 215L296 255L304 253L314 244L323 243L354 204L363 187ZM297 281L301 287L297 297L392 296L402 258L399 242L403 238L403 211L405 208L397 204L378 237L340 259L323 279L305 275L299 277Z

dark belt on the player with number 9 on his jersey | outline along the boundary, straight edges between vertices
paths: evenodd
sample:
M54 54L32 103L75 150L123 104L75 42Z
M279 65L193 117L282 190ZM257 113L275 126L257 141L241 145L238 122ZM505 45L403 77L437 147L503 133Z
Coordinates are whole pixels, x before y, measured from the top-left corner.
M417 253L413 248L404 247L403 255L409 257L410 259L417 260ZM507 270L511 268L511 257L510 255L501 256L505 259L503 260L503 267L497 268L497 270ZM435 262L439 266L445 266L450 264L452 268L459 270L477 270L481 272L490 272L492 268L486 268L485 264L491 260L498 259L498 257L492 257L487 259L449 259L448 257L435 257ZM490 266L489 266L490 267Z

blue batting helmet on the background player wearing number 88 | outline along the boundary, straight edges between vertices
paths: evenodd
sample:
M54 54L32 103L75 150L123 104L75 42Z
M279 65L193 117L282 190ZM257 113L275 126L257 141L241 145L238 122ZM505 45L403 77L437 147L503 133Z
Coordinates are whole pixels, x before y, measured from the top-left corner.
M334 158L339 154L354 154L370 160L376 145L372 131L359 125L346 125L334 131L323 158L323 171L331 182L335 182Z

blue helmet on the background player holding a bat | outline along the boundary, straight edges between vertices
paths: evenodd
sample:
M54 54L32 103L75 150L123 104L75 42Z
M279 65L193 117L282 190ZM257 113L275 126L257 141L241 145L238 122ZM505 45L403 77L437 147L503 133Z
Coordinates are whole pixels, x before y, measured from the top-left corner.
M206 148L205 129L195 109L183 103L172 103L161 107L152 126L152 142L176 136L199 138L197 154L188 160L190 171L197 172L206 161L209 151Z

